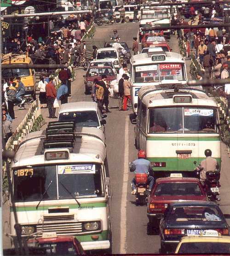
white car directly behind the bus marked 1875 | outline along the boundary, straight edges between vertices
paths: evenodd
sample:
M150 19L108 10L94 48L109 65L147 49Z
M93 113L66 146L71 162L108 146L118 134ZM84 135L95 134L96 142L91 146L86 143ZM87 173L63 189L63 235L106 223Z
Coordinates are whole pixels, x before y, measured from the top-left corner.
M78 101L62 104L58 112L58 121L74 121L75 126L97 127L104 131L107 115L102 115L98 104L93 101Z

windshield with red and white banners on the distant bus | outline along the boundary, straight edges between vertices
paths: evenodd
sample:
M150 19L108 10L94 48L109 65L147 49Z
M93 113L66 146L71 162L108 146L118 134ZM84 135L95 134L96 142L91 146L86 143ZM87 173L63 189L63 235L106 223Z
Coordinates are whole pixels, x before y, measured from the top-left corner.
M163 80L185 81L184 63L161 63L134 67L134 83L154 83Z

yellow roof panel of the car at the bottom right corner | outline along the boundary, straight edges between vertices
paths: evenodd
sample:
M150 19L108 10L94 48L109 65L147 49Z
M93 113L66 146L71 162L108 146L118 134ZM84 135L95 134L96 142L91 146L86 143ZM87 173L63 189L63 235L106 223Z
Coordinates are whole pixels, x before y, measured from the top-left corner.
M181 238L181 243L199 243L199 242L218 242L218 243L230 243L230 237L200 237L200 236L188 236Z

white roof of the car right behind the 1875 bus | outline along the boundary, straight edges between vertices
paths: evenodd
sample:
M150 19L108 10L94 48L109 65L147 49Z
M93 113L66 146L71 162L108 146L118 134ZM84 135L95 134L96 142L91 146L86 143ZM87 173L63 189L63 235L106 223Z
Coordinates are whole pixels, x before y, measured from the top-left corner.
M58 113L71 112L71 111L97 111L98 104L94 101L77 101L61 104Z

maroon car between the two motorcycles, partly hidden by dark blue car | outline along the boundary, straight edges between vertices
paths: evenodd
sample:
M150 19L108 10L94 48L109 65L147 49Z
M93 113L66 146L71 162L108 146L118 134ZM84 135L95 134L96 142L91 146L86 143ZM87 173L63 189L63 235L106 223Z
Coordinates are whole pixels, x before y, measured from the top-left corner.
M172 175L173 176L173 175ZM178 174L175 175L179 176ZM159 178L148 198L147 233L159 227L159 222L169 203L180 201L206 201L206 193L196 178Z

